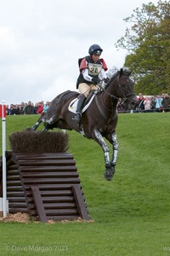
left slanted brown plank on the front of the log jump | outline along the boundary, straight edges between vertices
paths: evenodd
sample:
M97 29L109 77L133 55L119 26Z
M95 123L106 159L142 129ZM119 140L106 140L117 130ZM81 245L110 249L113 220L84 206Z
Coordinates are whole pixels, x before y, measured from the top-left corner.
M47 222L48 219L47 219L44 207L43 207L42 197L40 195L40 191L39 191L38 187L37 186L31 186L31 192L32 192L32 196L33 196L33 199L34 199L34 202L35 202L35 206L36 206L36 209L37 209L37 215L38 215L39 219L42 222Z

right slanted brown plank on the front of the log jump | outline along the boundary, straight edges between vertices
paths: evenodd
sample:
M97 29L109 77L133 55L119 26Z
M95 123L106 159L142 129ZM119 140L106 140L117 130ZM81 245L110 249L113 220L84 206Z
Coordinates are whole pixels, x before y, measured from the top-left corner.
M78 212L80 213L81 218L89 220L87 208L85 205L84 198L82 196L82 190L79 185L72 186L73 194L75 195L75 199L77 201Z

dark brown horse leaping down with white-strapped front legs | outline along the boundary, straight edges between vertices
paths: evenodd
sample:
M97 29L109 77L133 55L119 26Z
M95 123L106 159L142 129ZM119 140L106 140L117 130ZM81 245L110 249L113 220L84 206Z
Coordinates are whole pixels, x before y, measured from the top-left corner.
M105 159L105 179L111 181L116 167L119 144L116 138L117 125L117 102L129 102L133 106L137 98L133 92L133 80L130 79L131 71L127 68L121 68L114 73L110 81L105 86L100 86L99 90L94 90L92 96L86 100L88 108L82 109L82 121L78 124L73 119L74 112L71 107L77 102L80 94L77 91L66 90L56 96L51 102L47 113L42 113L35 125L29 128L31 131L37 130L37 127L43 122L45 128L59 128L63 130L75 130L82 133L88 139L94 139L103 149ZM89 99L90 98L90 99ZM91 101L91 102L89 102ZM86 102L85 102L86 105ZM87 105L86 105L87 106ZM110 150L105 143L105 139L112 145L112 156L110 160Z

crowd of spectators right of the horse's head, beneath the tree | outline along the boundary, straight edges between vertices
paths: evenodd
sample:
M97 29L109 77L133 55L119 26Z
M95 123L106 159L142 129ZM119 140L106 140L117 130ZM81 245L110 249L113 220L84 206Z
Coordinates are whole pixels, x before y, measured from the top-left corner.
M118 112L133 112L133 113L150 113L150 112L169 112L170 111L170 96L163 93L161 96L143 96L139 93L138 103L133 109L130 109L127 102L120 102L117 109Z

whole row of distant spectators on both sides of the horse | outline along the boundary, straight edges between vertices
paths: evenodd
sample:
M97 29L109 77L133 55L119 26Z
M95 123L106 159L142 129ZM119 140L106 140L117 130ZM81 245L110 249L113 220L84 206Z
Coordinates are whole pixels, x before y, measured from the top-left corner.
M44 103L43 101L34 104L29 101L28 103L21 102L20 104L11 104L6 106L7 115L15 114L42 114L48 111L50 102ZM129 108L128 103L119 102L117 105L119 113L140 113L140 112L169 112L170 111L170 96L165 93L161 96L143 96L139 93L138 104L133 109Z

